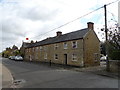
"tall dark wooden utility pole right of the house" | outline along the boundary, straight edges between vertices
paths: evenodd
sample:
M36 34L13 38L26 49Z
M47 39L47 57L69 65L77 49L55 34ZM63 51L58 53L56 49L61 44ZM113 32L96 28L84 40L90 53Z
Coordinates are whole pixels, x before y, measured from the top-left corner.
M108 59L108 29L107 29L107 9L106 5L104 5L104 10L105 10L105 38L106 38L106 70L110 71L110 64L109 64L109 59Z

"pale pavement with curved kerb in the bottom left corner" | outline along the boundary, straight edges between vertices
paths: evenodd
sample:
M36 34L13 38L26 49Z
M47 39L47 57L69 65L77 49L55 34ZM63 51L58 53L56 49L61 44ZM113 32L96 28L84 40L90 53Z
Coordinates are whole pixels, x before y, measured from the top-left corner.
M2 78L2 88L10 88L13 83L12 74L6 66L1 63L0 66L0 69L2 69L2 73L0 73L0 76Z

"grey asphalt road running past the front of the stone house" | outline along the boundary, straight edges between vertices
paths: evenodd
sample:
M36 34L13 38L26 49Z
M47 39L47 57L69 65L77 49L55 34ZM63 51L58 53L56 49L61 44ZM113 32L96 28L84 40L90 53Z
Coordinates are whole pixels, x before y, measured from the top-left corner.
M115 78L99 76L89 72L77 72L44 64L2 59L11 71L12 87L20 88L118 88Z

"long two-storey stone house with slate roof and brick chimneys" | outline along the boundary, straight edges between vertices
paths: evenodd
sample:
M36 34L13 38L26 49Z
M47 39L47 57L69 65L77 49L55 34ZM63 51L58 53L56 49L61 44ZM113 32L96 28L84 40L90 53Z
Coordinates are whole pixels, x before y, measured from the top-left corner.
M62 34L29 44L25 48L25 60L52 62L72 66L96 66L100 64L100 41L94 31L94 23L87 28Z

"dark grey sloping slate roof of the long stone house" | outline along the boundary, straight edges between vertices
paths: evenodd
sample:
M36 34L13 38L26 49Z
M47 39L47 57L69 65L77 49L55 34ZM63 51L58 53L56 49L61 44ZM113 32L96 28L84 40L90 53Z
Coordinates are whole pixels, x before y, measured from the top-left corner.
M77 30L67 34L63 34L61 36L55 36L48 39L44 39L36 43L28 44L27 47L30 48L30 47L40 46L40 45L47 45L47 44L65 42L69 40L82 39L87 32L88 32L88 28L85 28L85 29Z

